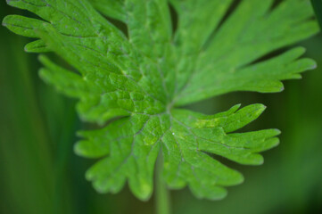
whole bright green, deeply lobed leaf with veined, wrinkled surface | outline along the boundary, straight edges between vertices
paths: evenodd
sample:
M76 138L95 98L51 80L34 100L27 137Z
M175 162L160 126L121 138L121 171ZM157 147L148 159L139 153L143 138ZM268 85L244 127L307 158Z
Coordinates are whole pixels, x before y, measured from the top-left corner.
M78 99L81 119L108 122L80 131L75 144L78 155L100 159L86 174L98 192L118 193L128 182L149 199L162 155L170 188L187 185L198 198L217 200L244 178L213 155L259 165L259 152L276 146L280 132L235 133L260 116L261 104L215 115L178 107L235 91L279 92L281 80L316 67L300 58L301 47L265 57L318 32L309 1L273 2L242 1L233 10L232 0L15 0L8 4L40 19L10 15L3 24L37 38L26 51L57 53L75 68L39 57L40 77ZM169 4L178 12L175 32ZM99 12L123 21L128 37Z

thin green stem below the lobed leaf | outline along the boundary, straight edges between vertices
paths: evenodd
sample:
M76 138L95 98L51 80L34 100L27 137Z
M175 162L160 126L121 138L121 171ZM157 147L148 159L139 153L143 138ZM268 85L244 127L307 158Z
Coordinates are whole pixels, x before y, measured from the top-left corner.
M169 190L162 177L163 158L160 154L156 164L155 206L156 214L170 214Z

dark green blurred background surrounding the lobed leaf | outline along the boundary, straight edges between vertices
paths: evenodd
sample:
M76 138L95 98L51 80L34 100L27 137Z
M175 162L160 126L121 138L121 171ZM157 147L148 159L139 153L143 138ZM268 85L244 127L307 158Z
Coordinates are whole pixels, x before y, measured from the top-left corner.
M20 11L2 1L0 12L2 20ZM75 101L38 78L37 54L23 51L27 42L0 28L0 213L153 213L153 198L140 202L128 188L116 195L95 193L86 181L93 161L79 158L72 147L76 130L88 125L78 120ZM321 35L301 45L322 65ZM187 189L172 191L172 212L322 213L322 69L286 81L280 94L234 93L189 108L215 113L235 103L267 105L244 130L279 128L281 144L264 153L263 166L227 162L244 173L245 182L230 187L225 200L201 201Z

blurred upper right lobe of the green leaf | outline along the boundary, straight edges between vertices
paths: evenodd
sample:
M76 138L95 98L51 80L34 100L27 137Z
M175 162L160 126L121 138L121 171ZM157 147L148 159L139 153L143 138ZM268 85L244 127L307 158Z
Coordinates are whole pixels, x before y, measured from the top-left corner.
M184 4L184 1L178 2ZM222 7L227 8L226 2L220 1ZM315 68L314 62L296 61L301 55L300 51L289 53L285 60L282 60L285 54L281 54L273 58L271 63L252 64L267 53L318 32L317 22L310 20L310 1L286 0L275 10L269 11L272 3L270 0L242 1L202 51L192 51L196 65L176 97L178 104L192 103L232 91L278 92L283 87L280 80L285 79L285 74L294 73L289 67L296 67L300 63L303 67L297 72ZM196 24L202 26L202 23ZM274 69L269 70L267 63Z

